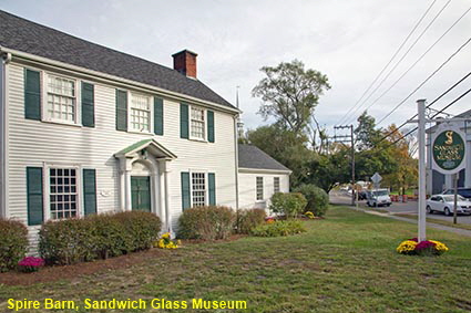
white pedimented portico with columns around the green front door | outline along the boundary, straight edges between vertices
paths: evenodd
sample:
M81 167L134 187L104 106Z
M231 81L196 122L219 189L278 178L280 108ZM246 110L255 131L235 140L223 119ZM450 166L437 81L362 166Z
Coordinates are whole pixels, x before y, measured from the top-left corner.
M114 156L120 160L121 210L154 212L162 229L173 232L168 173L176 156L154 139L137 142Z

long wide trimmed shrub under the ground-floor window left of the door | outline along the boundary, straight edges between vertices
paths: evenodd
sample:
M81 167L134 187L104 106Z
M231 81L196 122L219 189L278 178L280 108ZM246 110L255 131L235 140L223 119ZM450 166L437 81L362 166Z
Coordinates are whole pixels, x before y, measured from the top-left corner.
M149 249L161 220L151 212L129 211L45 222L39 251L49 264L73 264Z

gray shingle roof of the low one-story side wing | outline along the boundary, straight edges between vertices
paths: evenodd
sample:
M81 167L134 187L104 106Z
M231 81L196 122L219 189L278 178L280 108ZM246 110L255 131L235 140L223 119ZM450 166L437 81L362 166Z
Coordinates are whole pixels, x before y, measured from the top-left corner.
M238 167L256 168L256 169L273 169L273 170L289 170L286 166L252 145L238 145Z

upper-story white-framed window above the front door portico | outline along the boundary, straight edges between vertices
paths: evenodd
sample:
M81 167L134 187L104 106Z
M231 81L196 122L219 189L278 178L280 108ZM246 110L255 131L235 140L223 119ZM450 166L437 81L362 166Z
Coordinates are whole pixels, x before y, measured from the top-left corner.
M149 95L130 93L129 126L132 132L150 133L152 129L152 98Z

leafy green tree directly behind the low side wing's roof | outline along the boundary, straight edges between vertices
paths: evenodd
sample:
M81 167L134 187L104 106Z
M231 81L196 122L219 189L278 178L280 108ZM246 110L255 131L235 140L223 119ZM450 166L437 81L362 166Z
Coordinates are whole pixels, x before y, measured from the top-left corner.
M248 142L293 170L291 187L306 181L315 153L307 147L307 137L296 135L278 124L247 132Z

